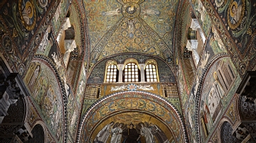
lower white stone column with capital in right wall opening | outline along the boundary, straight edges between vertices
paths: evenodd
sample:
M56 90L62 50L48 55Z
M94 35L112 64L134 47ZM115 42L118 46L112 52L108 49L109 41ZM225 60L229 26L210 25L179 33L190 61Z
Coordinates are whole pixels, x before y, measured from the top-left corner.
M192 52L193 61L196 64L196 67L198 66L198 62L200 60L200 57L197 52L198 47L198 41L197 40L188 40L186 47L189 51Z

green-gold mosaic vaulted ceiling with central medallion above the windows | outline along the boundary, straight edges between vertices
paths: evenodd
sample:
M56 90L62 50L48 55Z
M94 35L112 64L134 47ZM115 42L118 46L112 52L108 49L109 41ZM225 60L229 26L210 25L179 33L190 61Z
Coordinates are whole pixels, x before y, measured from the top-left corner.
M90 63L124 52L173 59L178 1L83 1L90 36Z

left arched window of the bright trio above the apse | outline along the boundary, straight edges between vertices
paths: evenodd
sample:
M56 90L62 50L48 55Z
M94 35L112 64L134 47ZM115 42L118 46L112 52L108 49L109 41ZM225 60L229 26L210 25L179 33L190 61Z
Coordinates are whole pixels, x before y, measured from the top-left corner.
M118 69L117 62L109 61L107 62L105 82L117 82L118 81Z

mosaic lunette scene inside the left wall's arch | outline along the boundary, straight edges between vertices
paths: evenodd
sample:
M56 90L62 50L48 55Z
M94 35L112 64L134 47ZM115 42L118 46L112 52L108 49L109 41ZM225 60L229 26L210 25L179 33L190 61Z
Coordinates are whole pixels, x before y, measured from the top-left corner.
M63 101L55 74L46 64L34 60L24 81L27 82L31 98L40 108L46 125L60 141L63 139Z

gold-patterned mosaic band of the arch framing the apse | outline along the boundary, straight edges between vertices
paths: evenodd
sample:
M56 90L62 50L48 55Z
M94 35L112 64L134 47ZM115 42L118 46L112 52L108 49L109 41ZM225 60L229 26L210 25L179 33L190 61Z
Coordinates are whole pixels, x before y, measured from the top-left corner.
M163 106L164 105L164 106ZM113 114L122 113L122 110L125 112L127 110L144 110L144 112L155 115L165 122L166 125L171 127L171 130L174 134L175 142L184 142L183 140L183 130L181 127L181 122L179 122L179 117L176 114L177 110L174 110L169 105L166 105L164 101L159 101L154 96L149 96L148 94L144 94L143 92L124 92L112 95L111 98L105 98L104 100L94 105L95 107L90 108L90 113L86 113L87 117L83 118L83 130L81 136L81 142L87 142L88 137L91 137L93 127L102 122L103 118L108 117ZM88 111L87 111L88 112ZM138 111L139 112L139 111ZM132 113L127 113L132 114ZM144 120L149 122L150 120L146 120L145 118L138 116L140 120L134 120L135 123L139 123ZM149 118L150 119L150 118ZM127 120L122 119L121 116L119 118L120 121L125 121L125 124L129 124ZM171 137L171 136L170 136Z

